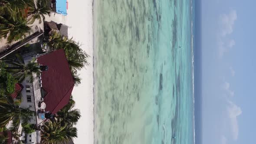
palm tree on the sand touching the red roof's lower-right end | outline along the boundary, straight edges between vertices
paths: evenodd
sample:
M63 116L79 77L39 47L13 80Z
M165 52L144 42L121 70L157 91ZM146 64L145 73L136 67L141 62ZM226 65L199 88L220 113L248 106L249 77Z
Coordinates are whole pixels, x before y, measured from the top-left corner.
M76 124L76 122L81 117L80 111L78 109L74 109L75 101L72 97L69 100L69 103L57 112L56 117L57 121L59 121L62 125L65 124Z

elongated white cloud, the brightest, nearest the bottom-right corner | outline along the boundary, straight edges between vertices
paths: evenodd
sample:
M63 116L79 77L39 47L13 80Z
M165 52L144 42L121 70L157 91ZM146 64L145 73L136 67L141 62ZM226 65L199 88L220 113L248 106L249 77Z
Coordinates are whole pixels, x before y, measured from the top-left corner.
M232 101L228 101L228 103L229 103L229 106L227 108L227 111L230 118L231 134L232 134L233 140L237 140L238 138L237 117L242 114L242 110Z

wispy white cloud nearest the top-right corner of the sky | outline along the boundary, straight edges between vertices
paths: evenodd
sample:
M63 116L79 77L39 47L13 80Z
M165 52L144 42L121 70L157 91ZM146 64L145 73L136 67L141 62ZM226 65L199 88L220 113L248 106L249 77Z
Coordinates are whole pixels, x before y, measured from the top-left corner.
M222 25L222 36L226 36L233 32L233 25L236 19L237 16L235 10L230 10L229 14L223 14L220 16L220 23Z

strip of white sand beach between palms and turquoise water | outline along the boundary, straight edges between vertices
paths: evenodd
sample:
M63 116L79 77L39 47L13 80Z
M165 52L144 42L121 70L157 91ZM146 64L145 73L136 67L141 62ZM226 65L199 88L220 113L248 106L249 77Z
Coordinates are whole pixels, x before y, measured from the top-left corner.
M78 137L75 144L94 143L94 95L93 95L93 0L69 0L67 25L69 37L82 44L82 49L90 55L90 65L82 69L82 82L75 87L72 95L76 108L80 109L82 117L76 125Z

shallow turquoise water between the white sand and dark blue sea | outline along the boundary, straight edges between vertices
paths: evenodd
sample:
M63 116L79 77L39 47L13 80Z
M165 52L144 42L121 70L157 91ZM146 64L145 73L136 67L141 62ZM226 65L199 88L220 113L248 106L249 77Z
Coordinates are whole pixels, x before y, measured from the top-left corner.
M193 144L190 0L95 0L95 144ZM173 138L173 137L176 138Z

